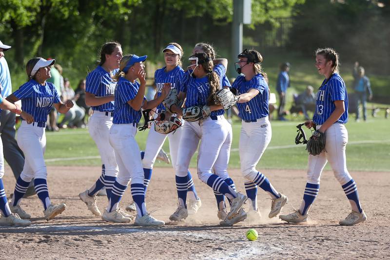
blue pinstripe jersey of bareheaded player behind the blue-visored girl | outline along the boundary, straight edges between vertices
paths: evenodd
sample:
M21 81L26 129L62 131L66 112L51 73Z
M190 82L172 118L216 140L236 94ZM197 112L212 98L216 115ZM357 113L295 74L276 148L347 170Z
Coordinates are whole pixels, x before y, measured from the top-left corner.
M112 73L115 75L117 71L118 69ZM85 91L94 94L95 97L105 97L114 94L116 85L117 83L112 80L110 73L98 66L88 74L85 80ZM101 112L114 112L114 101L93 106L92 109Z

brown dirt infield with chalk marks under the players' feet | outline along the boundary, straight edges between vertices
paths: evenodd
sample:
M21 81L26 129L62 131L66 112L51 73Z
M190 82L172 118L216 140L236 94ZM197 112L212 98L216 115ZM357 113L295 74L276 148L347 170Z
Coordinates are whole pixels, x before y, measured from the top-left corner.
M0 227L1 259L356 259L390 258L390 187L389 172L352 172L368 220L353 227L339 226L338 221L350 212L342 188L331 172L324 172L320 193L305 225L284 224L268 219L271 200L259 190L258 202L262 219L257 223L241 222L234 227L221 227L216 217L212 190L194 174L194 182L202 207L182 223L169 222L176 209L175 177L171 168L154 170L147 194L149 210L165 220L161 228L113 224L94 217L78 193L99 176L98 167L48 167L48 186L54 203L65 202L66 210L55 220L43 219L37 196L23 199L22 207L32 215L27 228ZM192 169L195 173L195 170ZM239 170L230 174L238 190L244 192ZM264 174L280 192L289 198L282 210L290 213L299 207L306 184L305 172L267 170ZM15 180L6 167L4 177L7 195L13 192ZM121 206L130 202L126 191ZM107 204L98 197L100 210ZM247 206L246 206L247 207ZM255 228L256 241L248 241L245 233Z

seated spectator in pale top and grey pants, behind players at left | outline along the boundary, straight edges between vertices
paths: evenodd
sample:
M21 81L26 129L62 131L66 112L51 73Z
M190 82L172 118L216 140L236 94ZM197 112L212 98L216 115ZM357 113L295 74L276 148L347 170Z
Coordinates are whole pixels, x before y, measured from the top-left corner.
M75 91L70 86L70 82L68 79L64 79L64 90L62 91L63 102L67 100L75 100ZM84 118L85 112L82 108L80 108L77 104L74 104L68 112L66 112L63 120L59 123L60 128L65 128L65 124L67 123L67 127L73 128L81 126L81 120Z

